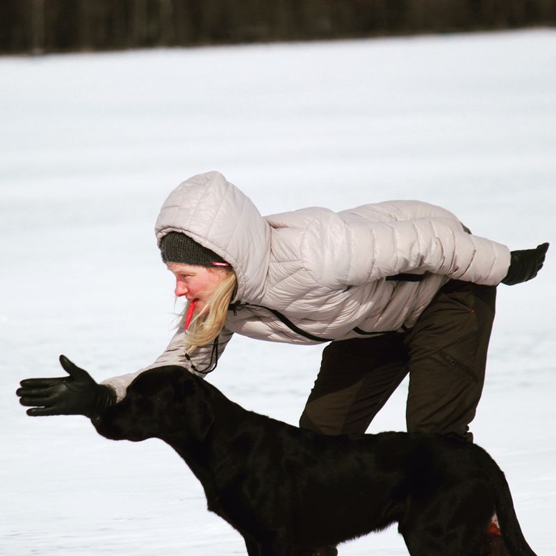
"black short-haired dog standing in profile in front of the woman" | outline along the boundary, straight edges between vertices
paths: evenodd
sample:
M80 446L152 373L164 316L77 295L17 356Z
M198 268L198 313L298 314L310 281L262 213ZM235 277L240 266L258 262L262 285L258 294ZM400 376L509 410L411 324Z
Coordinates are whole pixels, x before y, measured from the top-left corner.
M394 522L412 556L477 556L495 511L509 553L534 556L504 474L477 445L315 434L246 411L174 366L140 374L93 423L107 438L170 444L250 556L302 555Z

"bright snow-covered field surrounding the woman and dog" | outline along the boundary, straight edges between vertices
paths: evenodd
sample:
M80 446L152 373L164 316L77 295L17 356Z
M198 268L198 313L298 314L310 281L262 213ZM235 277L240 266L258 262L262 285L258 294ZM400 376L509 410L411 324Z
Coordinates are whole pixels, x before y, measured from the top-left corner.
M58 354L97 380L158 356L180 305L154 221L214 169L263 214L417 198L511 248L552 241L537 279L498 289L473 431L556 555L555 68L549 30L0 58L0 553L245 553L170 447L14 394ZM321 349L236 337L208 380L296 424ZM370 431L404 429L406 388ZM394 527L341 547L405 554Z

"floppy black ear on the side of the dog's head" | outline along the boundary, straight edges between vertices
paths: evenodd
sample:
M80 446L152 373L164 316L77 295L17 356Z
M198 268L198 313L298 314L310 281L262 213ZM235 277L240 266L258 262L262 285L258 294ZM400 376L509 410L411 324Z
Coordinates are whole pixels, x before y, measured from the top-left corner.
M214 424L210 392L203 388L201 381L198 376L188 373L179 381L183 422L195 440L204 440Z

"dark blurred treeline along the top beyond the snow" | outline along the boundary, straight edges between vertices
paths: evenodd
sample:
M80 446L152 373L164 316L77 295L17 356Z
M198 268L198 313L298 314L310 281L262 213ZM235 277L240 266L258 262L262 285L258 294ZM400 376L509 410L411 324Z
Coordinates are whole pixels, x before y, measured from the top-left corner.
M3 54L556 25L556 0L0 0Z

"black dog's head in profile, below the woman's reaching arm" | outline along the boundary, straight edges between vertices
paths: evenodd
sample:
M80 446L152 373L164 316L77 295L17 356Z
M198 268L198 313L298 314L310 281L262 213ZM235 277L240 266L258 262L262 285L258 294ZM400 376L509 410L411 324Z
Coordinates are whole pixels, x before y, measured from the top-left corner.
M114 440L203 440L214 421L210 397L210 387L185 368L156 367L138 375L126 397L93 424Z

